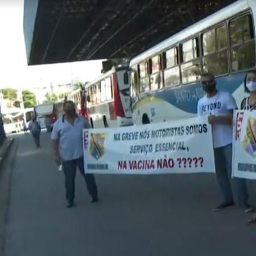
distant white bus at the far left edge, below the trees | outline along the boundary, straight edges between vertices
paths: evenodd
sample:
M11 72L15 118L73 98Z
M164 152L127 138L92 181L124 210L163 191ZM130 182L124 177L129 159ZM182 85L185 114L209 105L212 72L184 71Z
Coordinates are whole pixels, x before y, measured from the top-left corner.
M6 134L19 133L23 130L22 121L24 119L26 127L35 116L33 108L11 110L3 114L3 127Z

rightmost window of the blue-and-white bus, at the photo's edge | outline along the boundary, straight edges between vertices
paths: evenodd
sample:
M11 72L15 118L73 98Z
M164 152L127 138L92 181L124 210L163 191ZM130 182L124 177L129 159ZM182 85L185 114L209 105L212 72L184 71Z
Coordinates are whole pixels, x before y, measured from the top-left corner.
M230 56L233 72L255 67L255 43L250 14L229 22Z

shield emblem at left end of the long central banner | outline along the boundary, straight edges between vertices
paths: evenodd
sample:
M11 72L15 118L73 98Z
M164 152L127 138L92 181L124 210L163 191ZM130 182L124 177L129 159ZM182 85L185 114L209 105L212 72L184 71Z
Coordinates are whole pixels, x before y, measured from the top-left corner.
M104 141L106 133L91 133L89 152L94 159L98 160L104 155Z

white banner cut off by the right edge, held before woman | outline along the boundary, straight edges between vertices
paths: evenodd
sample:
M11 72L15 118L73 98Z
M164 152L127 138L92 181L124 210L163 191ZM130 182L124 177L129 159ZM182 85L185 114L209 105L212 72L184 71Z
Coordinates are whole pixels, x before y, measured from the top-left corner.
M232 176L256 179L256 111L234 113Z

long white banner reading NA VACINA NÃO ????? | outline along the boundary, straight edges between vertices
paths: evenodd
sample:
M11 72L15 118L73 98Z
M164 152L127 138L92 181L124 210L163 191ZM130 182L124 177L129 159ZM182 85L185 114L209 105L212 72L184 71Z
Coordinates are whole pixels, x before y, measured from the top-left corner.
M85 172L214 172L212 127L201 118L84 130Z

